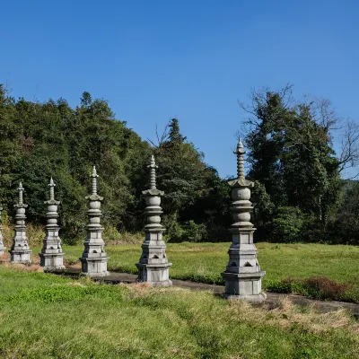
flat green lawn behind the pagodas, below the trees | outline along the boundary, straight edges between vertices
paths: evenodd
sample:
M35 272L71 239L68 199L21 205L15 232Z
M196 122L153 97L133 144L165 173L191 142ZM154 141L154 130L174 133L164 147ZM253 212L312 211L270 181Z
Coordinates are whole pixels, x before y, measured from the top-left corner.
M167 244L167 255L173 263L171 278L188 279L209 284L223 284L221 272L227 265L230 243L176 243ZM311 278L327 276L352 290L331 299L359 302L359 247L325 244L258 243L258 260L267 272L263 287L282 292L280 281L286 277ZM67 258L73 261L81 256L83 247L64 246ZM108 246L109 270L137 273L135 263L141 255L140 245ZM301 285L293 291L309 295ZM311 293L313 294L313 293Z

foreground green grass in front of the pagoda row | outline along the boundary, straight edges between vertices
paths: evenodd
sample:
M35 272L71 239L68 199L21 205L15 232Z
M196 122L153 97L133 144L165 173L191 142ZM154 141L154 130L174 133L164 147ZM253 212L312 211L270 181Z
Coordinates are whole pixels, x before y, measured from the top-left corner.
M345 311L319 314L288 302L268 311L209 292L99 285L26 270L0 265L1 358L359 355L359 324Z

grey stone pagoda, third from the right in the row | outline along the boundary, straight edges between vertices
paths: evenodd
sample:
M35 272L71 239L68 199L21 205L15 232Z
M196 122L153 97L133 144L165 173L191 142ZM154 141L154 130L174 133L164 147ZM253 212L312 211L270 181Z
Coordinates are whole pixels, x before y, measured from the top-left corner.
M96 167L93 166L92 174L92 195L87 196L89 200L89 223L87 224L87 237L84 241L83 257L80 258L83 274L87 276L109 276L107 271L107 257L104 250L105 242L102 240L103 228L101 227L101 201L103 197L97 194Z

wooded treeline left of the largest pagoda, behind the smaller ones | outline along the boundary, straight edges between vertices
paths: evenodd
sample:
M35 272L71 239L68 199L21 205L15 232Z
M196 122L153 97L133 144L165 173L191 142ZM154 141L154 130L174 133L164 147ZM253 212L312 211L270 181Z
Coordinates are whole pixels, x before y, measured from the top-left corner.
M57 184L62 237L81 239L87 223L89 174L97 166L103 196L102 223L116 239L118 232L141 231L151 153L159 165L158 187L163 223L171 241L214 241L225 238L228 188L203 154L180 134L172 119L158 144L143 141L126 122L114 118L107 101L83 92L81 106L64 99L45 103L15 100L0 87L0 202L13 218L19 181L29 205L27 221L45 224L48 180ZM200 209L200 210L199 210Z

